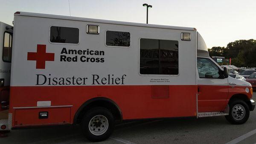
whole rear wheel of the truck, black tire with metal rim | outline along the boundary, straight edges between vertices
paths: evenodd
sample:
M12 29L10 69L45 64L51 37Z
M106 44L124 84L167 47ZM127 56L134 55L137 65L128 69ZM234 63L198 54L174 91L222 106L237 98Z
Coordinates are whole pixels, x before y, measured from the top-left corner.
M104 107L95 107L83 117L82 128L85 137L90 141L104 141L114 130L114 117Z

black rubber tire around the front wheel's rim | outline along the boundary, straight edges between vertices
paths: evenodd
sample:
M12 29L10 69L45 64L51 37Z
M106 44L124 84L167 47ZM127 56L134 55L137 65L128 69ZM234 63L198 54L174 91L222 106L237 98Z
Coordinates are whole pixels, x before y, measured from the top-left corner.
M234 110L235 110L235 108L236 108L236 107L239 107L239 105L243 106L244 111L245 111L245 113L244 113L243 110L242 110L242 111L240 110L240 112L244 113L243 118L240 118L240 117L239 117L239 116L241 116L241 115L237 115L237 113L238 113L237 111L236 111L236 112L233 111L233 108L234 108ZM229 121L231 124L244 124L244 123L248 120L248 118L249 118L249 116L250 116L250 110L249 110L248 105L247 105L244 101L242 101L242 100L240 100L240 99L234 99L234 100L232 100L232 101L229 103L229 107L230 107L229 115L225 116L225 118L226 118L227 121ZM243 109L243 108L242 108L242 109ZM233 116L232 113L235 113L235 114L234 114L235 116ZM240 118L240 119L239 119L239 118Z

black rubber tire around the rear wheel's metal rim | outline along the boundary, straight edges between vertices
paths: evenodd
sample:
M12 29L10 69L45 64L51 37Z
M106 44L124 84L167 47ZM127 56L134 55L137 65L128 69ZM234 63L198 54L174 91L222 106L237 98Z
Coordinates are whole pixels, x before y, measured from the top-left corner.
M96 136L90 132L89 123L93 117L98 116L98 115L105 116L105 118L108 120L108 128L107 128L107 131L105 131L105 133L102 133L102 135ZM90 141L104 141L105 139L109 138L111 136L111 134L113 133L114 126L115 126L115 123L114 123L113 114L108 109L106 109L104 107L92 108L87 113L85 113L85 115L82 119L83 133L84 133L85 137Z

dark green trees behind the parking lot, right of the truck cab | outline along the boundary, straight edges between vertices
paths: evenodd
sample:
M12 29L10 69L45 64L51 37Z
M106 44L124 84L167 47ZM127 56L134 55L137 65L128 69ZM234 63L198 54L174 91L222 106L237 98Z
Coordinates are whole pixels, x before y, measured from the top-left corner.
M227 44L227 47L208 48L210 56L231 58L231 65L237 67L256 67L256 40L236 40ZM227 63L223 63L228 65Z

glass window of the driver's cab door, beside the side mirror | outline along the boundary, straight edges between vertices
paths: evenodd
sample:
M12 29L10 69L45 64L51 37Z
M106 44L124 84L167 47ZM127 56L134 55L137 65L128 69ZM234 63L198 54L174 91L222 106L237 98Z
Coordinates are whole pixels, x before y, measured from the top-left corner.
M198 67L199 78L202 78L202 79L220 78L220 69L210 59L198 58L197 67Z

